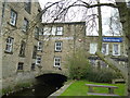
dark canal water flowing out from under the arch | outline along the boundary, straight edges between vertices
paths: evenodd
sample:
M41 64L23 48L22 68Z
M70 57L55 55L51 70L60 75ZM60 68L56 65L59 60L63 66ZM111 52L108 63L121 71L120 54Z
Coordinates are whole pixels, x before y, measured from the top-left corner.
M36 77L36 79L37 83L31 88L25 88L21 91L3 96L2 98L47 98L48 96L60 89L67 81L67 77L60 74L44 74Z

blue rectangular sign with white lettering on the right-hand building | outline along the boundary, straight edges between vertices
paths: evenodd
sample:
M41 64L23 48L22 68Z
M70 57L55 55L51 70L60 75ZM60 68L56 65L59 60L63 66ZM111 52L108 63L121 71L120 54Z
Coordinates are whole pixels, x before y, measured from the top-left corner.
M103 41L107 42L122 42L121 37L103 37Z

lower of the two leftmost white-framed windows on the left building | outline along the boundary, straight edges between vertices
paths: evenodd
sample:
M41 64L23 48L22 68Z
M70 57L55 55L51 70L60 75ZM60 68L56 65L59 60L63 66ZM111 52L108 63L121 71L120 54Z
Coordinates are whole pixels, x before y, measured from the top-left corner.
M13 41L14 41L14 38L12 38L12 37L6 38L6 46L5 46L6 52L13 51Z

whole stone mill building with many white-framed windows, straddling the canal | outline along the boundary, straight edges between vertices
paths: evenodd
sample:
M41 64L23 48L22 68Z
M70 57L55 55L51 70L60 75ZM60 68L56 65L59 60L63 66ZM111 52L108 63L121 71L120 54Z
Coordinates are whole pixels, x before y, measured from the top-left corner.
M98 36L86 35L86 22L42 23L38 2L0 1L0 68L2 88L34 83L44 73L68 75L67 57L79 48L90 63L107 66L96 56ZM36 20L37 19L37 20ZM37 23L37 24L36 24ZM102 52L127 68L122 36L103 36Z

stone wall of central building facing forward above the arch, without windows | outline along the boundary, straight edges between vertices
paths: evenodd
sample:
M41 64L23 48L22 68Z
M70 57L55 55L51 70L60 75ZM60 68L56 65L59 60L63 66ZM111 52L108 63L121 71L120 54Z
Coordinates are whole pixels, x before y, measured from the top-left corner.
M44 24L43 24L44 25ZM57 71L67 72L66 62L73 53L80 48L83 48L84 40L84 22L72 23L54 23L44 25L47 27L63 27L63 35L51 36L49 40L43 42L43 51L39 54L42 56L41 66L42 71ZM55 41L62 41L62 51L55 51ZM61 57L61 69L54 66L54 57Z

